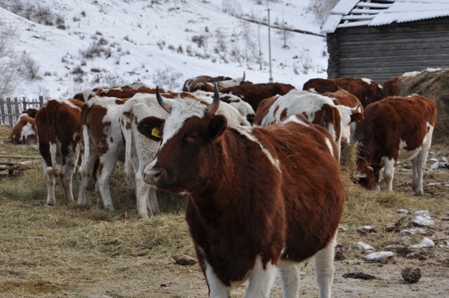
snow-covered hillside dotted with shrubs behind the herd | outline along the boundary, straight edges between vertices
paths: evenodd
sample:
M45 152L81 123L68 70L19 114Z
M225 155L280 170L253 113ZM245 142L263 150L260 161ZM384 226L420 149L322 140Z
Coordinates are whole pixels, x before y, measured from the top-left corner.
M0 28L14 29L15 51L27 52L38 66L36 79L13 97L72 97L82 88L135 81L177 91L192 76L237 77L243 71L254 83L269 79L267 26L246 21L266 24L266 1L39 1L53 14L53 25L39 24L39 15L34 22L19 16L34 1L23 0L24 7L11 2L0 0L7 8L0 8ZM318 34L304 13L307 4L270 2L272 25ZM310 78L326 77L327 59L322 36L272 29L274 81L302 88Z

